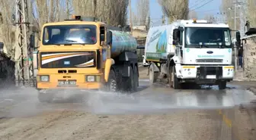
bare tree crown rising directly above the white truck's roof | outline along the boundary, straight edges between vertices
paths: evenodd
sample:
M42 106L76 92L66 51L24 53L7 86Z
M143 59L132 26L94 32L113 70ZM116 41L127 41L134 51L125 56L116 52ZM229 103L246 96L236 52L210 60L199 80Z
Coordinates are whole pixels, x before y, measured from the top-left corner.
M158 0L162 11L168 17L168 23L174 20L187 19L188 0Z

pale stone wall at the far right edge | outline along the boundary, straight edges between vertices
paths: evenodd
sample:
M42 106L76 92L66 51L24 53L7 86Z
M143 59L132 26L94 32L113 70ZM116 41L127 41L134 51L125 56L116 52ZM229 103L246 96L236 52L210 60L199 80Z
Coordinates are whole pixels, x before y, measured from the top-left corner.
M244 45L244 78L256 79L256 38Z

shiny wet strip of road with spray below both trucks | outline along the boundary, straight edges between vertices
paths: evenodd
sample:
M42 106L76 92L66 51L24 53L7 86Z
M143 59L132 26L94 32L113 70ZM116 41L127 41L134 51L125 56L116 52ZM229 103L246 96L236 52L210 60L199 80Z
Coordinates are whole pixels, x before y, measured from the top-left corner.
M174 90L165 83L149 86L149 80L139 81L139 92L133 94L86 92L82 95L68 92L66 99L52 104L42 104L37 100L34 89L23 92L0 92L1 108L10 108L12 112L27 109L27 112L43 110L84 110L95 114L154 114L171 113L178 109L228 109L239 104L250 104L255 100L253 93L239 86L229 85L226 90L217 86L202 86L201 89ZM15 104L15 105L13 105ZM2 110L0 108L0 111ZM4 109L3 109L4 110Z

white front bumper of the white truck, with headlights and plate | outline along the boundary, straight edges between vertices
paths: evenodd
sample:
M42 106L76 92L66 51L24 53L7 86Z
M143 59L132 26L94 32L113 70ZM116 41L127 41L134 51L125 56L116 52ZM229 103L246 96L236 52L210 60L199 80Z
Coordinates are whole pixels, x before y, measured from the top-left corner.
M180 79L212 79L232 80L233 66L176 66L177 76Z

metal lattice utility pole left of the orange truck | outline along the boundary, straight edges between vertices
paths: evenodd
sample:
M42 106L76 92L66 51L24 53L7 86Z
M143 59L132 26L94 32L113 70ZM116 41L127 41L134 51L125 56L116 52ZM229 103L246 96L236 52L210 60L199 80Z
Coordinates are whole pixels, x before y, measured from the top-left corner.
M16 0L16 30L18 31L18 45L20 53L15 60L15 85L34 86L33 51L30 49L30 23L28 22L27 0Z

